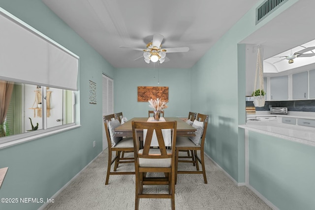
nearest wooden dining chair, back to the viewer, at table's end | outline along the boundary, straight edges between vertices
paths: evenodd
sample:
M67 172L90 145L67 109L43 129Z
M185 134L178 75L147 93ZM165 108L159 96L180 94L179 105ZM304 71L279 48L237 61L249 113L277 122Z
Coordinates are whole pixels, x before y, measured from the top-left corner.
M139 209L140 198L171 199L171 209L175 210L177 121L132 121L131 124L136 174L135 210ZM139 138L137 136L139 131L146 131L146 136L143 137L144 146L141 150L139 150ZM169 135L165 134L164 131L169 131ZM152 146L156 144L158 144L158 147L153 148ZM170 149L166 149L169 146ZM148 173L152 172L156 176L149 176ZM161 175L158 173L161 173ZM145 193L144 185L168 185L168 193Z

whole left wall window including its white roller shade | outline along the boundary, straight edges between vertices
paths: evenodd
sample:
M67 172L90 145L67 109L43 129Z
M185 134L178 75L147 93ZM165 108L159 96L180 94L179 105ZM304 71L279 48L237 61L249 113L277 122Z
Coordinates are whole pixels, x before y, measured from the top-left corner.
M2 8L0 25L0 148L75 125L79 57Z

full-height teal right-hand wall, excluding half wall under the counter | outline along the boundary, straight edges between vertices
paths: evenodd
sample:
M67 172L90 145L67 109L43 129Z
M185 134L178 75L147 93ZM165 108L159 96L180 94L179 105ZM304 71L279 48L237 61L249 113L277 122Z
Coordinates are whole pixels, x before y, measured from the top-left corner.
M245 123L246 95L246 49L238 44L296 1L287 1L255 26L255 8L262 1L257 2L192 67L191 109L210 117L205 152L237 182L245 181L244 132L238 125Z

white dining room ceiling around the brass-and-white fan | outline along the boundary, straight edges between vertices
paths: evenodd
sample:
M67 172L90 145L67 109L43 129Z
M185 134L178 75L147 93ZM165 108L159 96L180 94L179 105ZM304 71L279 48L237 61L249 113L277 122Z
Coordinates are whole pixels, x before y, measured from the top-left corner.
M154 33L163 48L189 47L168 53L159 68L190 68L258 0L43 0L116 68L148 68L141 51ZM314 14L314 13L313 13ZM134 61L135 60L135 61Z

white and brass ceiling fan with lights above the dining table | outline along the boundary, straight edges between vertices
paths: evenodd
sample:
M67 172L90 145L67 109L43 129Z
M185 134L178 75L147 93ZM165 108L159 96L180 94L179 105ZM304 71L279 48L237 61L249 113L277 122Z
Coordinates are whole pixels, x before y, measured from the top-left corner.
M152 42L149 42L147 44L146 49L135 48L135 47L125 47L125 46L119 46L119 47L143 51L143 56L137 59L144 57L144 61L146 63L150 63L150 61L152 62L159 61L159 63L162 63L164 61L169 60L166 57L166 53L182 53L182 52L189 51L189 47L162 48L161 43L163 41L163 38L164 37L161 34L158 34L158 33L153 34Z

